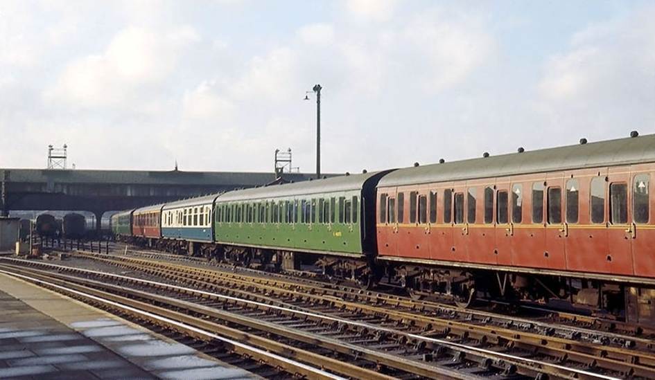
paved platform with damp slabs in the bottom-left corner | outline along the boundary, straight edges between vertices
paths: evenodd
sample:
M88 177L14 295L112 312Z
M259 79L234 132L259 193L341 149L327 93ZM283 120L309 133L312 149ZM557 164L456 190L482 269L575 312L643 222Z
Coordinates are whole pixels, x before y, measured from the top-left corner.
M0 379L253 379L165 336L0 273Z

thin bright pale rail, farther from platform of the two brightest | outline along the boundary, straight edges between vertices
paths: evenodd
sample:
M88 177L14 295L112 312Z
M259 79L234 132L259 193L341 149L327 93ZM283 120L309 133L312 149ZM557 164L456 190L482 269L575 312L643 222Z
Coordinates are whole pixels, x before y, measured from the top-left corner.
M54 264L46 264L46 265L56 266ZM64 266L63 268L68 269L68 270L71 269L68 266ZM82 269L78 269L78 270L86 271L86 272L93 272L93 271L87 271L87 270L82 270ZM100 274L109 275L108 273L100 273ZM383 332L392 333L392 334L405 334L405 333L399 332L399 331L397 331L395 329L379 327L379 326L376 326L376 325L371 325L369 323L353 322L353 321L350 321L350 320L344 320L342 318L333 318L333 317L329 317L329 316L326 317L326 316L324 316L322 314L315 314L315 313L309 313L309 312L305 312L305 311L298 311L298 310L295 310L295 309L277 307L277 306L274 306L274 305L268 305L268 304L264 304L264 303L261 303L261 302L254 302L254 301L250 301L250 300L246 301L246 300L243 300L241 298L234 298L234 297L230 297L230 296L224 296L224 295L220 295L220 294L216 294L216 293L210 293L210 292L207 292L207 291L201 291L201 290L198 290L198 289L189 289L189 288L184 288L184 287L178 287L176 285L163 284L161 282L154 282L154 281L149 281L149 280L139 280L139 279L129 278L127 276L121 276L121 275L111 274L110 276L115 277L115 278L121 278L123 280L130 280L130 281L134 280L134 281L139 281L139 282L144 282L144 283L150 283L153 286L157 286L157 287L169 287L169 288L177 289L177 290L182 291L184 293L193 293L193 292L195 292L195 293L202 294L203 296L211 296L211 297L214 297L214 298L223 298L223 299L227 299L227 300L240 301L240 302L250 302L252 305L255 305L256 307L268 307L268 308L273 308L273 309L279 309L280 311L286 311L286 312L293 312L293 313L297 313L297 314L302 314L304 316L308 316L308 317L311 317L311 318L324 318L324 319L327 319L327 320L333 320L333 321L338 322L338 323L347 323L349 325L358 325L360 327L365 327L367 329L377 329L378 331L383 331ZM445 341L443 339L431 338L429 336L426 337L426 336L422 336L422 335L419 335L419 334L405 334L405 335L410 337L410 338L413 338L415 340L419 340L419 341L427 341L427 342L430 342L430 343L437 343L437 344L441 344L441 345L449 345L451 347L455 346L455 347L459 347L459 348L466 349L466 350L473 350L473 351L476 351L476 352L483 352L484 354L491 354L491 355L494 355L494 357L500 356L500 357L503 357L504 359L512 359L512 360L518 360L518 361L523 362L523 363L531 363L532 365L540 365L540 364L543 365L544 364L544 363L536 361L534 359L526 359L526 358L522 358L521 356L515 356L515 355L511 355L511 354L504 354L504 353L499 353L499 352L495 352L495 351L491 351L491 350L484 350L484 349L481 349L481 348L478 348L478 347L471 348L468 345L462 345L460 343L453 343L452 341ZM564 356L566 356L566 351L561 350L559 352L559 355L561 356L562 354L564 354ZM593 359L593 356L590 356L588 359ZM625 363L613 363L613 364L621 365L621 364L625 364ZM566 368L563 365L553 365L552 363L547 363L545 365L550 366L550 368L555 368L557 370L566 370L566 371L571 371L572 370L571 368ZM584 377L594 377L594 378L600 378L600 379L611 378L611 377L603 377L603 375L600 375L600 374L597 374L597 373L594 373L594 372L584 371L584 370L575 370L575 369L573 369L573 372L576 373L578 376L584 376Z

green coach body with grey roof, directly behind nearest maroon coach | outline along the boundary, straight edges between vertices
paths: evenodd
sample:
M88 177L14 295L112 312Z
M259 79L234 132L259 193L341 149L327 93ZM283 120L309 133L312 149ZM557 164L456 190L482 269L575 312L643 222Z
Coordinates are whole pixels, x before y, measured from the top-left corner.
M215 203L215 242L270 253L321 253L360 259L373 255L374 212L366 211L375 207L376 184L386 173L222 194Z

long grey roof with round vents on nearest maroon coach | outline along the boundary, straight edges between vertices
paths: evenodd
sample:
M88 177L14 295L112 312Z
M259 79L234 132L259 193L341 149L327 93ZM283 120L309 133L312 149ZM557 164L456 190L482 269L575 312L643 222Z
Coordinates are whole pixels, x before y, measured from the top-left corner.
M378 188L649 162L655 162L655 135L404 168L385 175Z

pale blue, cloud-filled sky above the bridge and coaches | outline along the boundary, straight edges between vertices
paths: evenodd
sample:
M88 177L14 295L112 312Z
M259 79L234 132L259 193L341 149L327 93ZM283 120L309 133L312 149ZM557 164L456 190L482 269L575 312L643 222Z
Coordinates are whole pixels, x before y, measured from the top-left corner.
M322 172L655 133L655 1L0 0L0 168ZM306 91L311 100L306 101Z

